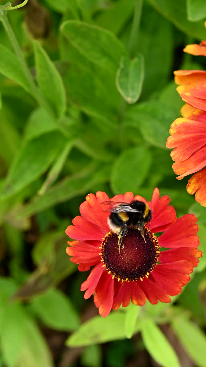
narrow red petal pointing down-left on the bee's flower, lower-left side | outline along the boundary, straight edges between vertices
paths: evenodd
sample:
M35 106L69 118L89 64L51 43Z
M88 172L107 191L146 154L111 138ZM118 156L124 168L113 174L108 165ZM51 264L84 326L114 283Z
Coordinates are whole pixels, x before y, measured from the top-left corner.
M104 268L102 268L102 263L100 262L92 269L87 280L85 280L84 283L82 283L81 291L85 291L88 288L84 294L85 299L91 297L91 295L95 292L95 288L98 284L98 281L103 271L104 271Z

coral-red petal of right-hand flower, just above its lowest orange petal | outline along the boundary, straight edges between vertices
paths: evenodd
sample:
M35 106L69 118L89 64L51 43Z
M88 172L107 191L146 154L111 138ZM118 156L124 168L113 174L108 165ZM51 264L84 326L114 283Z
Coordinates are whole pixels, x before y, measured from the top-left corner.
M183 162L176 162L172 165L174 172L177 175L177 179L190 175L191 173L197 172L206 166L206 145L204 145L197 152Z

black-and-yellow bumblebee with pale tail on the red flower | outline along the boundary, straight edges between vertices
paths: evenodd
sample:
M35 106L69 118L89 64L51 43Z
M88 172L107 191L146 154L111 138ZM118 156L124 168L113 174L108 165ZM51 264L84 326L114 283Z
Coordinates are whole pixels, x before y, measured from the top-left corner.
M152 213L144 201L132 200L130 203L123 203L121 201L104 201L101 204L108 206L104 211L110 212L108 225L113 232L118 234L119 254L122 238L126 234L127 228L133 227L140 230L141 236L146 243L143 228L148 222L150 223Z

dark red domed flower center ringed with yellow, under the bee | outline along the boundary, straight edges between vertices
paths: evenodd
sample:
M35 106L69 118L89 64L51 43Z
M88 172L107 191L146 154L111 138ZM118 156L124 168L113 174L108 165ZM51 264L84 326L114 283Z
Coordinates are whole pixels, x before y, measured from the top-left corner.
M118 280L135 281L151 273L159 257L157 237L144 228L144 239L140 230L128 228L122 239L120 254L118 251L118 235L109 232L101 246L101 256L106 270Z

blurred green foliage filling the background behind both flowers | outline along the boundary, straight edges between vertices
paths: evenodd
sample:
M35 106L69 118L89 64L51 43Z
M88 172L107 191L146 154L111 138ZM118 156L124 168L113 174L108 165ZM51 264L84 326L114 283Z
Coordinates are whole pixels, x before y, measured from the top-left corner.
M205 208L165 148L182 106L173 70L206 67L182 51L206 39L205 2L0 6L0 366L205 367L205 257L171 304L103 319L64 232L88 193L151 200L158 186L198 216L206 247Z

